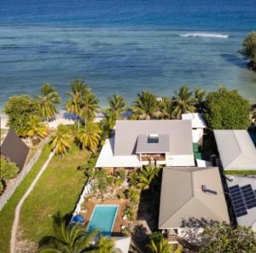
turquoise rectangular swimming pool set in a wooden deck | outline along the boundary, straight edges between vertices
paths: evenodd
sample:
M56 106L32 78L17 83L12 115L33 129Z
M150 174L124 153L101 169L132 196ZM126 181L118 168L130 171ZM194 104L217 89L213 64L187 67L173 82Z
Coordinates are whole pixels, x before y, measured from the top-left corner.
M96 204L87 231L99 229L102 235L110 236L118 209L118 204Z

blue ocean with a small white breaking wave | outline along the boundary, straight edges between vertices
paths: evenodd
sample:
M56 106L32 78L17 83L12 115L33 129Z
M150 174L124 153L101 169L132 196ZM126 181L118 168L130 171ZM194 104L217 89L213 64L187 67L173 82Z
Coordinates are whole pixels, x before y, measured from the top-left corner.
M255 0L0 0L0 108L51 83L66 100L84 78L102 106L143 89L226 86L256 101L239 50L256 30ZM63 106L63 105L62 105Z

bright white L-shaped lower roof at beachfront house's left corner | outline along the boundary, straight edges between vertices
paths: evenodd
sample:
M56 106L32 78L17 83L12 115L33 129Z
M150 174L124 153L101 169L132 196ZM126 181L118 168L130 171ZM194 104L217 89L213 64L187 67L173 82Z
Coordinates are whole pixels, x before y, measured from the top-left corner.
M102 151L97 159L97 168L114 168L114 167L141 167L137 155L130 156L114 156L113 155L114 137L106 140L102 147Z

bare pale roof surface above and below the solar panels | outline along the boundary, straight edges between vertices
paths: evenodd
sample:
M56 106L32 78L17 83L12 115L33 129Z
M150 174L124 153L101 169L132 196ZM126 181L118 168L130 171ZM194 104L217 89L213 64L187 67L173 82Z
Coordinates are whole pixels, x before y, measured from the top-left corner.
M228 187L233 187L236 185L239 185L239 187L251 185L253 190L256 190L255 176L232 175L226 179L226 182ZM247 215L237 217L236 221L238 225L252 227L253 231L256 232L256 207L247 209Z

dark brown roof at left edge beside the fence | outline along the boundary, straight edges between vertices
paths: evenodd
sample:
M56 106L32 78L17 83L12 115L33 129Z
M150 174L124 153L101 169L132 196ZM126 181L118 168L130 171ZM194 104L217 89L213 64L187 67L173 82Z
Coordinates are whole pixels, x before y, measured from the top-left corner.
M0 147L0 155L7 158L10 162L17 164L20 170L22 170L28 152L29 147L15 134L13 129L9 129L9 133Z

